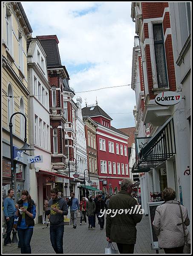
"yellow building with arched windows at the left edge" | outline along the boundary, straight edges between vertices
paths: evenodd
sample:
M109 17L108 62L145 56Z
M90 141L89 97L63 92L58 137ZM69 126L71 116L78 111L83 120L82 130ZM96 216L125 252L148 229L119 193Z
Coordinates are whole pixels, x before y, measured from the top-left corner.
M32 28L21 3L2 3L2 130L3 130L3 193L11 186L9 121L15 112L22 112L28 119L27 89L27 39ZM24 117L17 114L12 119L13 146L20 148L24 139ZM27 122L27 138L28 138ZM29 151L30 153L30 151ZM17 197L22 189L29 189L28 152L17 157Z

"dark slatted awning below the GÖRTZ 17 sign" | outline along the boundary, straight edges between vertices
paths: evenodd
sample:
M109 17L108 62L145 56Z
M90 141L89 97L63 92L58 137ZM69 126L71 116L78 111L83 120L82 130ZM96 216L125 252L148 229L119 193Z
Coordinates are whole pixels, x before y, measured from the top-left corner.
M135 162L132 173L149 172L161 163L176 154L176 142L173 117L156 132L156 134L144 145Z

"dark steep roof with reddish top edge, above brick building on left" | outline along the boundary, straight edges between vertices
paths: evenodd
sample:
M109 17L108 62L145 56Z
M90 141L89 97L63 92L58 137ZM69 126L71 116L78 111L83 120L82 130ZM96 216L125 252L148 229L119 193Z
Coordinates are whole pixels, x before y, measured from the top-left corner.
M56 35L37 35L43 48L47 54L46 62L47 67L58 67L61 66L60 53L58 49L58 38Z

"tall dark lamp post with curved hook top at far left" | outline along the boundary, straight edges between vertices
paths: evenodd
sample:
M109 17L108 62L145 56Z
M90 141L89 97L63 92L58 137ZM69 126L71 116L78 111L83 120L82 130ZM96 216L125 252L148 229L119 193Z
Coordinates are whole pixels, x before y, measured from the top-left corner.
M26 152L26 150L35 150L35 149L32 149L30 148L28 145L27 145L27 119L26 119L26 116L21 113L21 112L15 112L11 115L10 117L10 122L9 122L9 135L10 135L10 159L11 159L11 176L12 176L12 189L14 190L14 200L15 200L15 203L16 203L16 200L17 200L17 177L16 177L16 172L14 171L14 156L13 156L13 130L12 130L12 127L13 127L13 124L12 124L12 118L14 115L16 114L20 114L22 116L24 116L24 119L25 119L25 134L24 134L24 144L23 144L23 147L22 148L19 148L19 149L16 149L16 150L22 150ZM12 242L16 242L17 243L17 231L15 229L13 229L13 238L12 238Z

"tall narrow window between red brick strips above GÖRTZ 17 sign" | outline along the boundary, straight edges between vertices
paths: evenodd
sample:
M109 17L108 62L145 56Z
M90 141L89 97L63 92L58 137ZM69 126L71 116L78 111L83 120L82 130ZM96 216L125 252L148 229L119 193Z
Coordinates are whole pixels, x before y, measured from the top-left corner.
M167 87L167 69L162 24L153 24L153 38L156 57L158 88Z

